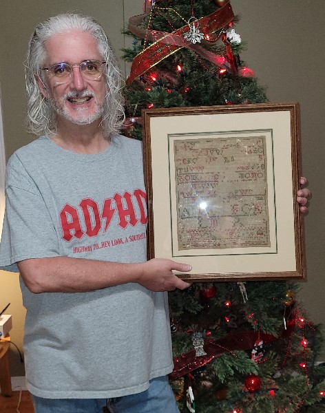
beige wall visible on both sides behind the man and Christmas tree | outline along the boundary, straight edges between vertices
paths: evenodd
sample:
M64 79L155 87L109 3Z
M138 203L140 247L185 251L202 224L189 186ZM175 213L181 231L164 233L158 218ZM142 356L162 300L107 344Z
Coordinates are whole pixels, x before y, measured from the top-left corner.
M268 86L273 102L299 101L302 112L303 172L311 182L313 202L306 217L306 257L308 282L302 299L314 322L325 321L322 291L324 274L324 0L232 0L235 14L241 15L236 32L248 43L241 58L251 67L260 84ZM123 22L140 14L143 0L11 0L0 3L0 85L7 158L32 140L23 128L25 116L22 62L34 25L65 11L92 14L105 28L118 54L125 39ZM129 42L129 39L126 40ZM122 70L125 63L120 62ZM10 67L10 70L9 70ZM261 297L263 299L263 297ZM25 310L21 303L18 275L0 271L0 305L10 302L13 315L12 340L22 348ZM12 348L12 374L23 368Z

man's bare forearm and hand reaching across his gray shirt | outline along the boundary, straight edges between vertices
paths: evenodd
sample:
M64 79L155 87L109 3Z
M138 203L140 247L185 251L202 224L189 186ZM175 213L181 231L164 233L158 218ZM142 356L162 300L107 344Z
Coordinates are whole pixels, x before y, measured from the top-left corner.
M128 282L151 291L184 290L191 285L172 272L190 271L191 266L157 258L136 264L72 257L32 258L17 265L32 293L82 293Z

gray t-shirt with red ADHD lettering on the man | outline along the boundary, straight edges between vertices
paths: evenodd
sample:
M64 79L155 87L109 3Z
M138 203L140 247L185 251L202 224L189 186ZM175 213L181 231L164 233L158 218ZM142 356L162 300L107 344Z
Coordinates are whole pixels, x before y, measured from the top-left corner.
M147 207L140 142L78 154L41 138L6 173L0 266L67 256L145 262ZM50 399L143 392L173 368L167 293L129 283L89 293L33 294L21 280L28 390Z

